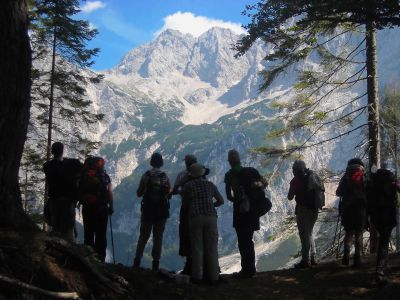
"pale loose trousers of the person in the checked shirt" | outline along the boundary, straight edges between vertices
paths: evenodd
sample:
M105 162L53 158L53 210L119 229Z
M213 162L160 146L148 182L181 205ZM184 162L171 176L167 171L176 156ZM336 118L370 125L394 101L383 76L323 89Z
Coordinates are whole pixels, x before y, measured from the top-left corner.
M198 215L190 219L190 242L192 247L192 278L216 281L219 277L218 226L214 215ZM203 274L203 266L207 274Z

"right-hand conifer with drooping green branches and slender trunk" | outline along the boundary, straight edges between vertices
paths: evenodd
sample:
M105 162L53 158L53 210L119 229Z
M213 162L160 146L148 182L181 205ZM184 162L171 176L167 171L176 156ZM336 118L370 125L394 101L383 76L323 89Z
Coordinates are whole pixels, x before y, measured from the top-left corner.
M265 57L267 67L261 72L264 78L261 90L268 89L276 78L296 63L317 57L320 69L302 70L294 88L297 96L290 103L280 104L287 114L282 119L282 128L271 133L271 138L284 136L296 130L311 129L310 137L300 145L261 151L269 156L288 157L304 148L329 142L347 133L368 128L367 148L369 164L380 165L380 133L378 110L378 83L376 57L376 30L390 28L400 24L399 2L394 0L264 0L248 5L244 14L251 18L245 26L248 34L236 44L237 55L243 55L261 39L272 44L273 51ZM329 43L349 36L342 43L339 53L330 50ZM359 43L354 43L358 36ZM338 76L346 68L353 73L346 78ZM364 106L342 113L337 119L330 115L343 107L324 110L321 104L336 91L349 89L366 81L365 94L351 99L368 101ZM273 104L278 107L277 103ZM326 107L326 106L325 106ZM279 108L280 109L280 108ZM336 123L340 127L352 125L361 115L368 115L368 122L360 126L349 127L344 134L315 142L318 132L326 125ZM314 137L314 142L310 139ZM261 149L262 150L262 149Z

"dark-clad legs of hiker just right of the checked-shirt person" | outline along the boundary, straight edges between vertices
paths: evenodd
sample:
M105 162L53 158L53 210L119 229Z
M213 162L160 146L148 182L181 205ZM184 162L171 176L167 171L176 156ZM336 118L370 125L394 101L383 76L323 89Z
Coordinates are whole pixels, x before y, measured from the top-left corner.
M241 257L242 272L253 275L256 272L253 233L248 226L237 227L238 247Z

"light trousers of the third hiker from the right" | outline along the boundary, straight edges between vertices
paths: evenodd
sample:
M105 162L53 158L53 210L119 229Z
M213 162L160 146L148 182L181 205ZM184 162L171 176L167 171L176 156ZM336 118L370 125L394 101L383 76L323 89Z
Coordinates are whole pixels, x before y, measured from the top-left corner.
M297 229L301 242L301 256L303 261L309 261L311 255L315 256L315 241L313 229L318 218L318 210L301 205L296 206Z

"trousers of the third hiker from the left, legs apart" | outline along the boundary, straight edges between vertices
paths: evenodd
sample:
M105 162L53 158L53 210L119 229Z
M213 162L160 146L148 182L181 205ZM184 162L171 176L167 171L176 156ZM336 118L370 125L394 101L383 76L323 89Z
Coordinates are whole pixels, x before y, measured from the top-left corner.
M167 219L161 219L157 221L147 221L142 218L140 223L140 234L138 243L136 246L135 258L140 261L143 256L144 248L150 238L150 234L153 231L153 249L151 256L153 260L159 261L161 257L162 241L165 229L165 223Z

